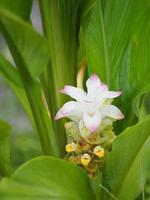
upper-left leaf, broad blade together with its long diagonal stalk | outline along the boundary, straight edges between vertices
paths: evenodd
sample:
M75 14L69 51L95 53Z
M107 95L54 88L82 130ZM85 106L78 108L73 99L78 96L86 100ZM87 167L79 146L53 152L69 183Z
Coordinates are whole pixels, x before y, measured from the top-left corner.
M37 79L49 60L48 44L30 24L4 9L0 9L0 22L25 88L43 152L58 155L52 120L43 103L42 88Z

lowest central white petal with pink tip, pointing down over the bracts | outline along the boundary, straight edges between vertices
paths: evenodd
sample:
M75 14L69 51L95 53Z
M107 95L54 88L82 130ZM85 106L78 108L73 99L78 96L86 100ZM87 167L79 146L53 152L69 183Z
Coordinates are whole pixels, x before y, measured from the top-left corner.
M99 127L101 122L101 115L99 112L95 113L95 115L90 116L88 113L83 114L83 121L85 126L91 131L95 132Z

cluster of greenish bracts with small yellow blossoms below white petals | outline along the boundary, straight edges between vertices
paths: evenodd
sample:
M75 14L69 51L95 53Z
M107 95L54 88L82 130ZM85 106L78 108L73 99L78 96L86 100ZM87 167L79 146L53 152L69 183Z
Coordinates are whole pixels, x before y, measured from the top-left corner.
M89 175L95 175L103 167L105 153L115 139L112 126L104 126L88 137L81 137L74 122L67 122L65 129L68 139L65 159L83 167Z

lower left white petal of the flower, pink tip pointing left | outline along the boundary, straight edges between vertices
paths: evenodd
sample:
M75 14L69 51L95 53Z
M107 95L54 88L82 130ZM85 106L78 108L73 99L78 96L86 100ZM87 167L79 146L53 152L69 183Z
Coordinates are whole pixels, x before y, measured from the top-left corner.
M67 117L72 120L78 120L82 117L82 110L80 103L76 101L69 101L65 103L55 116L55 120Z

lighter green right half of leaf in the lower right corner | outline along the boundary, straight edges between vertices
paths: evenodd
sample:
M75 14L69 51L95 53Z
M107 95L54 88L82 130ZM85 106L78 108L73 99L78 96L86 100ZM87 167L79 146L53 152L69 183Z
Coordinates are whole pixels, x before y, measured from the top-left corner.
M149 152L150 138L146 140L138 153L132 169L129 171L128 176L122 185L122 190L120 194L118 194L118 199L134 200L141 192L144 192L145 182L149 175Z

